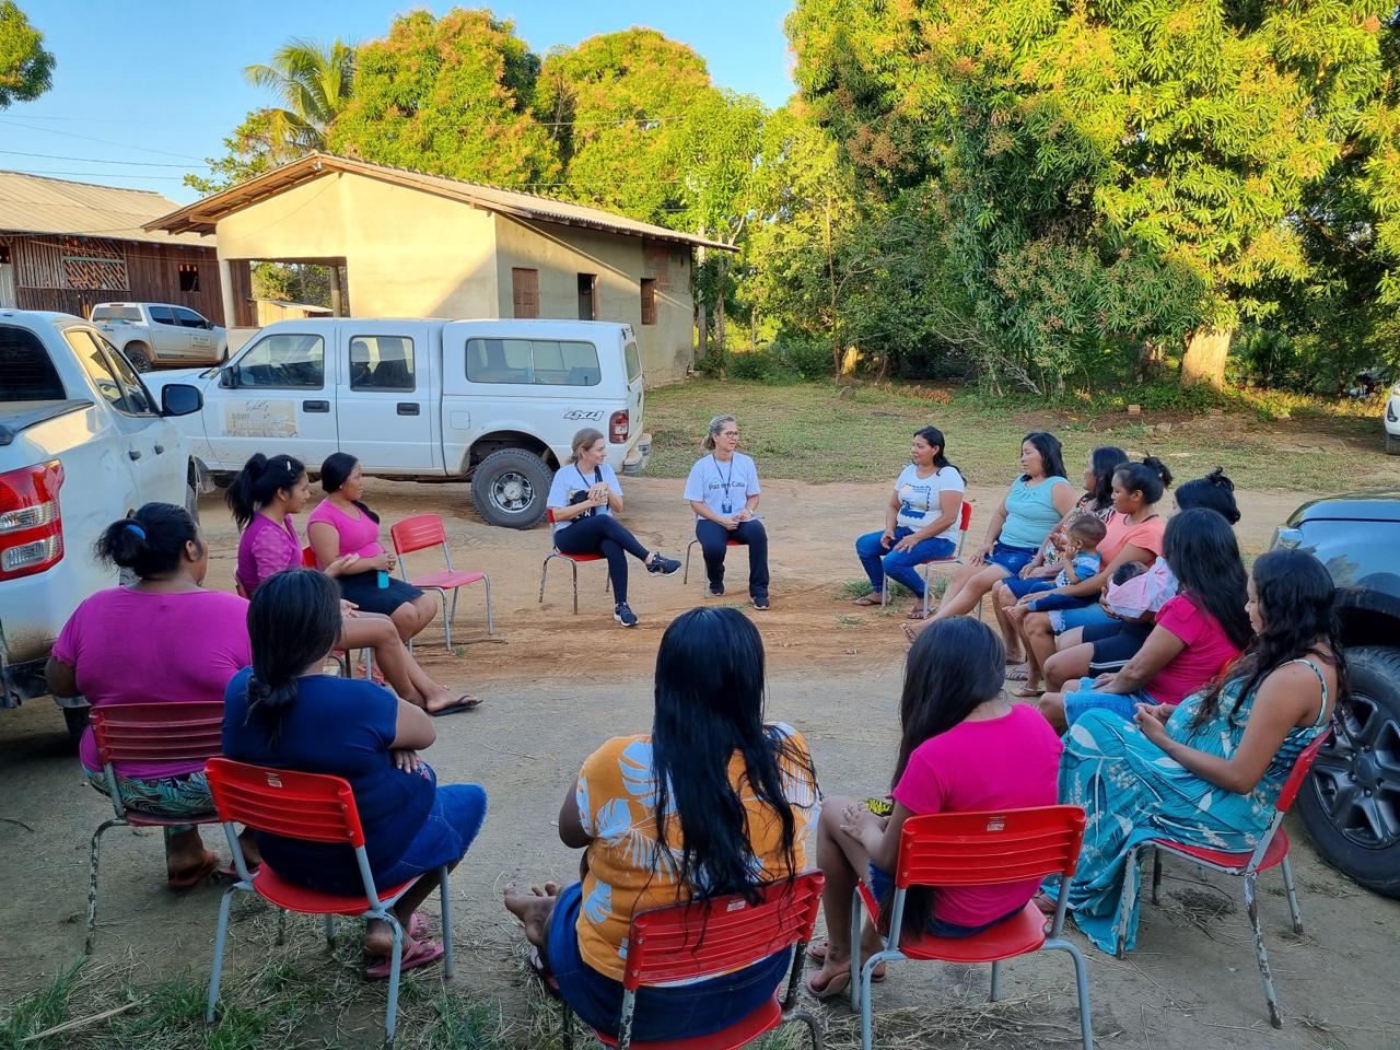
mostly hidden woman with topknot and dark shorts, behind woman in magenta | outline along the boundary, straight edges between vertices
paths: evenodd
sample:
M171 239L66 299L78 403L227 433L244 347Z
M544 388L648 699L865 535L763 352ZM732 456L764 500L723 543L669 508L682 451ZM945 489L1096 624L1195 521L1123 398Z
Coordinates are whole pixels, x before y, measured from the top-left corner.
M1205 477L1179 484L1172 505L1177 511L1204 507L1219 514L1231 525L1236 525L1240 518L1239 505L1235 503L1235 483L1218 466ZM1120 570L1123 564L1119 566ZM1116 580L1116 575L1113 578ZM1044 664L1046 686L1050 692L1060 692L1067 682L1084 676L1116 672L1137 655L1152 633L1156 613L1177 591L1176 577L1165 557L1156 559L1147 567L1145 578L1134 585L1134 591L1149 598L1141 606L1138 616L1074 627L1056 637L1057 651Z

